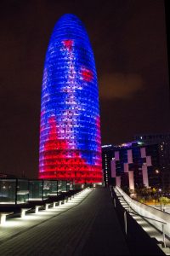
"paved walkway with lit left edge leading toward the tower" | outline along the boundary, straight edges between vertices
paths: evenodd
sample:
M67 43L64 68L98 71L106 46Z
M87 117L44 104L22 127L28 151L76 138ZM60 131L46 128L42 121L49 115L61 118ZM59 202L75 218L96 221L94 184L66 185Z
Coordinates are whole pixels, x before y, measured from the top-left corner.
M88 190L78 205L76 198L24 220L8 219L0 227L1 255L129 255L110 191Z

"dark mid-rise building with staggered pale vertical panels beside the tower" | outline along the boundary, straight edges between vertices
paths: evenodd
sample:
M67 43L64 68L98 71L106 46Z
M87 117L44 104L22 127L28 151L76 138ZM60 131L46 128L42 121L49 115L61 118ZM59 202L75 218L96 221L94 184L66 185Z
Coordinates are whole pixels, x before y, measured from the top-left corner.
M118 185L129 189L161 187L158 145L134 141L121 145L102 146L105 186Z

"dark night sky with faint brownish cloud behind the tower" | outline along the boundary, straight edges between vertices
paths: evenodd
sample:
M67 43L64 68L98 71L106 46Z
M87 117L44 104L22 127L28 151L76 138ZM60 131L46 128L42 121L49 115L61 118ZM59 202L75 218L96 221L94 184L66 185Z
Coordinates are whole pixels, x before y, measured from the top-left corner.
M1 0L0 172L37 177L43 63L65 13L94 49L102 143L170 131L164 12L161 0Z

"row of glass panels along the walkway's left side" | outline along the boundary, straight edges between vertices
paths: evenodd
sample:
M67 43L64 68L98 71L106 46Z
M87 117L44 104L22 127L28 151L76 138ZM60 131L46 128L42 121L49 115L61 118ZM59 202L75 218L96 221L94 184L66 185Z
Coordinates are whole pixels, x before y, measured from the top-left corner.
M43 201L74 189L72 181L0 178L0 205Z

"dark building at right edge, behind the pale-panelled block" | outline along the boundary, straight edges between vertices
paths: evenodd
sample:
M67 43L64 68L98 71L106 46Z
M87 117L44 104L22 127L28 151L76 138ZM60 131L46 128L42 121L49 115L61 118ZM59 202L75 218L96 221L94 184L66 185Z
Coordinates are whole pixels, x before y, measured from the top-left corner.
M162 189L170 191L170 133L139 134L134 136L134 139L145 145L157 144Z

